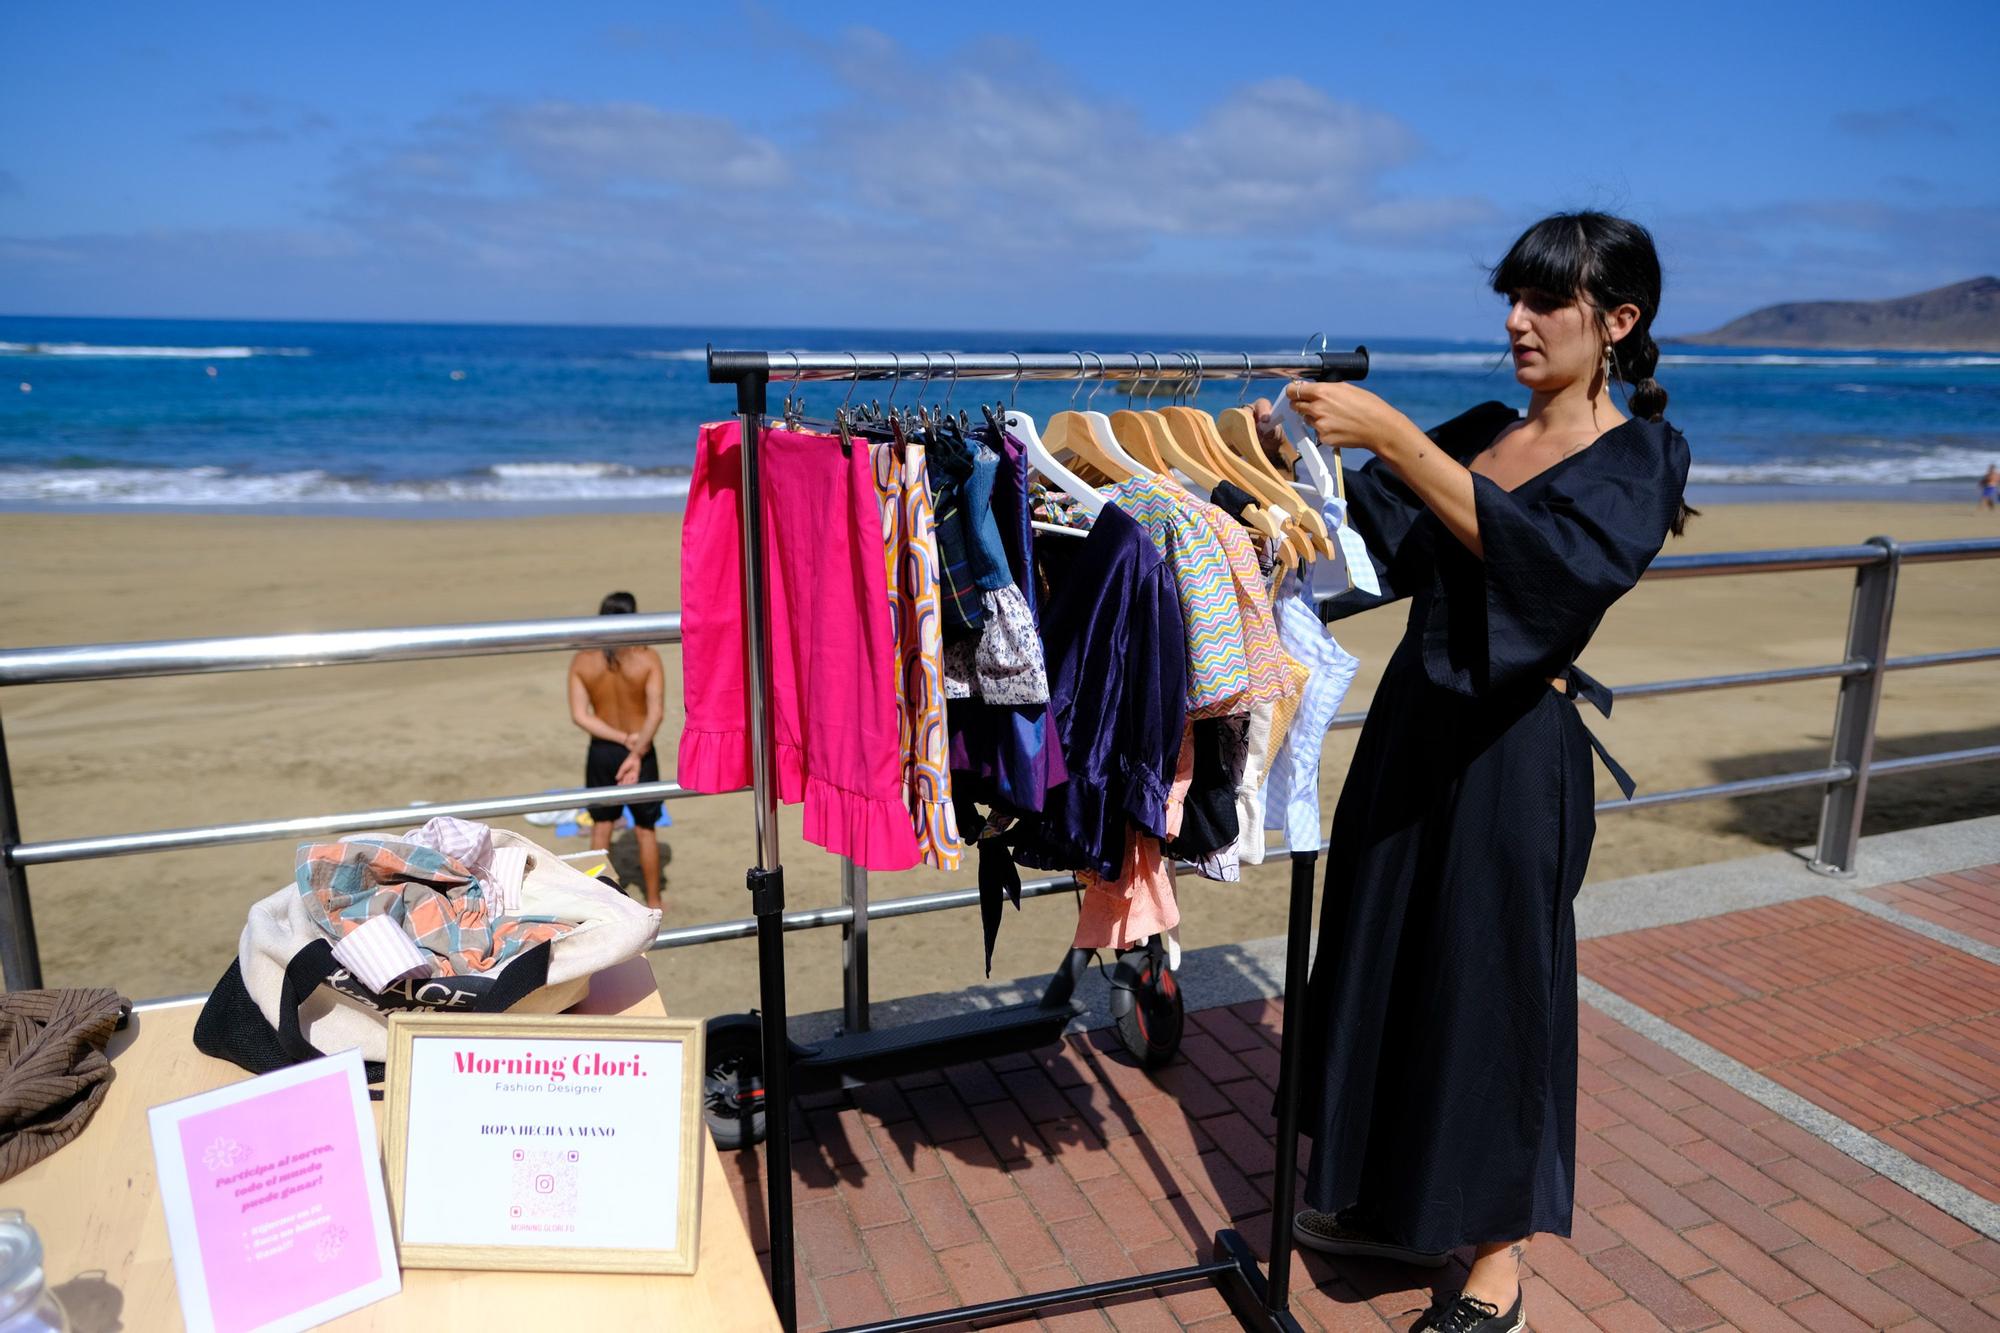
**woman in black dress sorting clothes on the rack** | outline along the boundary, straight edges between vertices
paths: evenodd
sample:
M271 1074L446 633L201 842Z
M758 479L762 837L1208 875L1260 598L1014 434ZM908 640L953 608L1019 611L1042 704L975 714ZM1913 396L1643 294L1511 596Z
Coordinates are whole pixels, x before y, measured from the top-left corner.
M1290 386L1322 444L1376 454L1348 504L1384 592L1328 614L1412 598L1334 813L1294 1235L1428 1265L1476 1247L1466 1289L1418 1325L1448 1333L1522 1327L1528 1237L1570 1233L1572 899L1602 755L1578 699L1610 711L1574 662L1692 512L1652 378L1652 236L1544 218L1492 284L1526 416L1488 402L1426 434L1354 384Z

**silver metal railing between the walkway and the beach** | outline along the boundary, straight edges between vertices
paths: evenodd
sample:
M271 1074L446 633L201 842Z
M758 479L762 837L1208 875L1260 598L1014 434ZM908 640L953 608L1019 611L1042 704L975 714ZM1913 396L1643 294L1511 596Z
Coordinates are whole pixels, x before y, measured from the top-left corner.
M1896 606L1896 580L1906 564L1938 564L1952 560L2000 558L2000 540L1944 540L1898 544L1886 536L1858 546L1810 546L1786 550L1744 550L1718 554L1660 556L1646 570L1656 578L1706 578L1720 574L1772 574L1796 570L1854 570L1854 598L1848 612L1846 652L1838 662L1818 666L1784 666L1720 677L1690 677L1626 685L1616 699L1656 699L1662 695L1692 695L1718 689L1760 685L1792 685L1800 681L1838 681L1834 713L1834 743L1828 763L1800 773L1776 773L1710 787L1684 787L1648 793L1634 801L1604 801L1598 813L1750 797L1804 787L1822 789L1820 837L1814 869L1828 875L1850 875L1860 839L1862 811L1872 777L1942 769L1948 765L2000 759L2000 745L1958 751L1934 751L1902 759L1874 759L1876 717L1882 703L1882 679L1890 671L1928 666L1960 666L2000 660L2000 646L1964 648L1954 652L1924 652L1888 656L1890 622ZM0 687L56 685L78 681L132 681L178 675L210 675L230 671L270 671L292 666L336 666L356 662L408 662L426 658L490 656L506 652L550 652L562 648L608 648L626 644L680 642L678 614L582 616L564 620L516 620L500 624L442 624L380 630L336 630L320 634L254 634L232 638L186 638L172 642L70 644L52 648L0 650ZM1334 727L1360 727L1362 713L1344 713ZM8 989L42 985L40 949L28 899L28 867L128 857L196 847L232 847L300 837L324 837L360 829L408 827L434 815L498 819L532 811L560 811L600 801L624 805L640 799L674 801L696 793L676 783L642 783L636 787L592 787L476 801L444 801L428 805L398 805L342 815L304 819L268 819L198 829L162 829L152 833L114 833L42 843L22 841L14 801L14 781L8 769L6 731L0 727L0 969ZM1022 885L1022 897L1066 893L1068 877L1036 879ZM844 1009L850 1029L868 1027L868 923L950 911L978 903L976 889L910 895L884 903L868 901L868 875L842 865L842 903L786 913L788 931L840 927L844 937ZM722 939L756 935L756 921L714 921L694 927L660 931L654 949L706 945Z

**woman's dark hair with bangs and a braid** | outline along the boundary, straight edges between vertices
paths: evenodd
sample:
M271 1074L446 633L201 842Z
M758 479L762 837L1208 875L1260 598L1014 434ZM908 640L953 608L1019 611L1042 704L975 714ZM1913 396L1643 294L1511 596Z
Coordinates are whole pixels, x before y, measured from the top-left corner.
M1584 298L1596 308L1600 328L1606 310L1638 306L1638 322L1610 344L1612 374L1632 386L1626 402L1634 416L1666 418L1666 390L1652 378L1660 364L1660 346L1652 340L1652 316L1660 312L1660 252L1652 232L1608 212L1556 212L1524 230L1490 278L1502 296L1536 290ZM1694 514L1686 502L1680 506L1674 536Z

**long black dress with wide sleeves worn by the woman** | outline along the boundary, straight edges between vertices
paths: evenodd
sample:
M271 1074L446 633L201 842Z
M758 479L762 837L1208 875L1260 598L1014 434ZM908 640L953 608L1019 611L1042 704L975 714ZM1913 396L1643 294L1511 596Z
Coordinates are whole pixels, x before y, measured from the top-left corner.
M1430 438L1468 462L1514 420L1488 402ZM1570 1233L1572 901L1596 831L1576 693L1608 711L1572 664L1660 552L1686 478L1686 440L1648 420L1512 492L1474 474L1480 558L1384 464L1350 472L1384 594L1328 616L1412 606L1326 853L1300 1081L1308 1207L1354 1209L1352 1225L1426 1251Z

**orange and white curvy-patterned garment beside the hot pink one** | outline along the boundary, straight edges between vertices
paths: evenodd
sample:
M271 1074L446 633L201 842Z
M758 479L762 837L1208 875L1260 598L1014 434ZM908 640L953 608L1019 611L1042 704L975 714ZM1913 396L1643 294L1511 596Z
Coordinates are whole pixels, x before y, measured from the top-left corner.
M964 855L952 809L944 731L944 622L938 538L924 450L872 444L876 502L882 508L882 564L896 662L896 723L902 743L904 805L926 865L956 871Z

